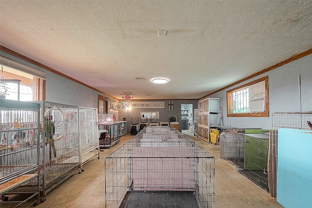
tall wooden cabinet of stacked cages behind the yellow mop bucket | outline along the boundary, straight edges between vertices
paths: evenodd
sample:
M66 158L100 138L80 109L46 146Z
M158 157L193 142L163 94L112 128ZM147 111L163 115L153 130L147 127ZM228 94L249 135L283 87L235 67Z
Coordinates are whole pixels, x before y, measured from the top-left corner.
M221 126L221 98L198 101L198 138L210 142L210 129Z

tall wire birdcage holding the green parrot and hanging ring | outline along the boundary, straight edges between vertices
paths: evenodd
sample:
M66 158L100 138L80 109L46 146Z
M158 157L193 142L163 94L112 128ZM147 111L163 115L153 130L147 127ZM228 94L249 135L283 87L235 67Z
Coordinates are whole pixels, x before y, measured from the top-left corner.
M79 120L78 106L47 101L40 104L41 186L46 196L80 167Z

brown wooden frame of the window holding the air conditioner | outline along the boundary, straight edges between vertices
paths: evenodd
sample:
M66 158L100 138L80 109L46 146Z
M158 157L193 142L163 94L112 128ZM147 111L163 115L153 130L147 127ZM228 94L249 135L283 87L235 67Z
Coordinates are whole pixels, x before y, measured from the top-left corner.
M265 111L264 112L248 112L248 113L231 113L230 110L233 109L233 98L232 95L234 92L245 89L256 83L265 81ZM262 78L256 79L254 81L248 82L247 84L235 87L227 92L227 116L228 117L269 117L269 76L264 76Z

